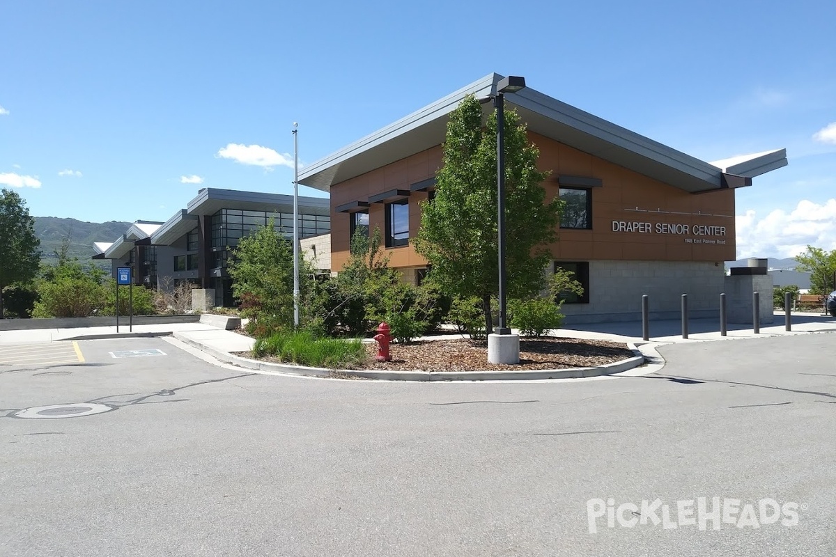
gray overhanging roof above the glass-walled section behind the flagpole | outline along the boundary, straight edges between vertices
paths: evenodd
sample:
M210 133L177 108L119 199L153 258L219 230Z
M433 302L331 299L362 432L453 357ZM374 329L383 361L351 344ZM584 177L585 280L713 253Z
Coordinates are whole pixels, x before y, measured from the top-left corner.
M197 193L195 199L189 201L187 212L189 215L214 215L221 209L291 213L293 212L293 195L203 188ZM303 197L300 195L299 213L330 215L331 202L326 197Z

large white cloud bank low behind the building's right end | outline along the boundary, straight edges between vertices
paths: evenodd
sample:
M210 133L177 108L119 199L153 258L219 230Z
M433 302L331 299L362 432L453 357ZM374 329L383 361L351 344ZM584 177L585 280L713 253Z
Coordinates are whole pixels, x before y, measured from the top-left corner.
M757 218L737 215L737 257L794 257L807 246L836 250L836 199L818 205L801 200L791 212L773 210Z

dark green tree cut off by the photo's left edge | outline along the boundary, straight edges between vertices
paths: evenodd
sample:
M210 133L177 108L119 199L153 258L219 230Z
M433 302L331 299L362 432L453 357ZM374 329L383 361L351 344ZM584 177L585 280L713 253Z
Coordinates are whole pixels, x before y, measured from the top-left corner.
M12 190L0 190L0 319L3 290L16 282L25 284L38 275L40 245L26 202Z

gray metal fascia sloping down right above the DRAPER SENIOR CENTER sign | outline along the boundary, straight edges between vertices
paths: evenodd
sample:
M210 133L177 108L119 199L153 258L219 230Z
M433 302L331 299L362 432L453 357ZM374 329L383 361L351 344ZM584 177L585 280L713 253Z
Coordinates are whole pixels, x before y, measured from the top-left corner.
M699 160L690 154L672 149L665 144L636 134L594 114L577 109L570 104L553 99L534 89L523 89L514 94L507 94L507 104L553 119L568 125L584 134L601 139L609 144L627 149L661 165L690 174L699 180L717 188L721 186L721 171L716 166ZM592 153L594 154L594 153Z

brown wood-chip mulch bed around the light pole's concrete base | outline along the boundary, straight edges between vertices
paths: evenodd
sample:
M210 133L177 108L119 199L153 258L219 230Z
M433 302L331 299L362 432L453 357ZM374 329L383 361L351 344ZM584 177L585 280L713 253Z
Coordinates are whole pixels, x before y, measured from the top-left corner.
M421 341L390 345L392 361L377 362L377 344L367 347L362 369L423 372L473 372L595 367L633 357L623 342L543 337L520 339L520 362L515 366L487 363L487 342L468 339Z

